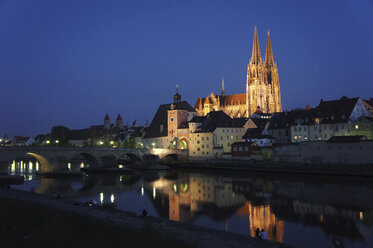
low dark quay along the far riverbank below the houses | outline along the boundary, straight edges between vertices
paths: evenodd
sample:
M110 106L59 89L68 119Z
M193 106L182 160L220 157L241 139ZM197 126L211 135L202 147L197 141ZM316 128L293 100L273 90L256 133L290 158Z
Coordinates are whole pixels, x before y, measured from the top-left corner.
M331 176L373 177L373 165L293 164L237 160L177 161L165 164L171 168L262 173L310 174Z

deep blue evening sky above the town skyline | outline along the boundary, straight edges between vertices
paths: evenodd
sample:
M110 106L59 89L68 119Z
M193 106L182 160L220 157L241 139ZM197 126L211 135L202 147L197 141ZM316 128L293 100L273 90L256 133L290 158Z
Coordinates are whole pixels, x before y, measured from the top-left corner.
M0 0L0 136L151 121L180 93L244 93L254 25L285 109L373 97L373 3Z

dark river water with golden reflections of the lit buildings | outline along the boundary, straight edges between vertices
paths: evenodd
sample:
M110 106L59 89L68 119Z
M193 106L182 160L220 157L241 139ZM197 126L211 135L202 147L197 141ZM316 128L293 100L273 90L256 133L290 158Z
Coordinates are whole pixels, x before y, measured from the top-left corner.
M87 166L69 163L71 170ZM117 208L254 236L295 247L373 247L373 179L218 172L136 171L133 175L43 178L35 161L13 161L12 188L95 200Z

